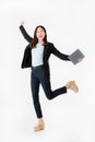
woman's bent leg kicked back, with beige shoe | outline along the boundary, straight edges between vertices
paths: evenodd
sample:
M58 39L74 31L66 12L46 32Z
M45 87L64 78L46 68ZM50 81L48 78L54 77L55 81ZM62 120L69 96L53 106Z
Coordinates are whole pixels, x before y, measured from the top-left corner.
M66 84L66 86L51 91L49 76L45 74L43 68L38 70L37 74L48 99L52 99L61 94L67 93L67 90L72 90L75 93L79 92L79 87L76 86L76 83L74 81L70 81Z

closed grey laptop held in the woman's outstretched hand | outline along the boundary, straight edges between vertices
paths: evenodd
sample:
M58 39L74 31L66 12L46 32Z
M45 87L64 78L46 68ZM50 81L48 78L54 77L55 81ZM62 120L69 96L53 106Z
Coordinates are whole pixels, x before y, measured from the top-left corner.
M80 49L76 49L69 56L69 59L72 61L73 64L79 63L79 59L83 59L83 58L84 55Z

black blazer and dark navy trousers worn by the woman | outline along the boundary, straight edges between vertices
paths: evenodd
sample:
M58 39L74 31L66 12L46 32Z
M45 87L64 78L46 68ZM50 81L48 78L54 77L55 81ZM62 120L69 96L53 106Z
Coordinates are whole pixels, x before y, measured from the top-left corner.
M23 26L20 26L20 29L21 29L23 36L25 37L25 39L28 43L31 43L33 38L26 33L25 28ZM28 44L24 51L22 68L32 67L31 49L32 48L29 47L29 44ZM44 66L40 66L37 69L34 69L32 67L33 70L31 73L31 88L32 88L33 103L34 103L37 118L43 117L43 113L41 113L41 108L40 108L40 104L39 104L39 96L38 96L39 84L41 84L41 86L45 91L46 97L48 99L52 99L58 95L67 93L66 86L51 91L50 80L49 80L49 64L48 64L48 59L51 54L54 54L55 56L59 57L62 60L69 60L68 55L61 54L60 51L58 51L56 49L54 44L48 43L44 47L44 56L43 56Z

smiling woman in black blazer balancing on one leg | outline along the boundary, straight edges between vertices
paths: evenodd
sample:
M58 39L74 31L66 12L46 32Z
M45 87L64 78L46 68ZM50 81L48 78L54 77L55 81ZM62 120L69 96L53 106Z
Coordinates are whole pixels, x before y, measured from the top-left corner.
M24 21L20 24L20 31L23 34L24 38L28 42L27 47L24 51L24 57L22 61L22 68L32 68L31 72L31 88L33 96L33 104L36 111L36 116L38 118L37 126L34 127L35 131L44 130L45 122L43 119L41 107L39 103L39 84L41 84L46 97L48 99L52 99L58 95L64 94L68 90L72 90L78 93L79 87L75 81L68 82L64 86L51 91L50 86L50 72L48 59L51 54L57 56L58 58L70 61L69 56L61 54L57 50L54 44L47 42L47 33L44 26L39 25L35 28L34 38L32 38L24 28Z

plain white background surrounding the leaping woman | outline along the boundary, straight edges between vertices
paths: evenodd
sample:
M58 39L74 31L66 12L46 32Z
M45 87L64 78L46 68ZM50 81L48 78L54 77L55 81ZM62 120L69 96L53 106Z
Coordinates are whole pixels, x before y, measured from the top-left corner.
M46 27L48 40L63 54L80 48L85 59L76 66L51 56L52 90L75 80L80 92L47 100L40 87L45 131L35 133L29 69L21 69L27 42L19 26L25 20L31 36L37 25ZM95 1L0 1L0 141L95 142Z

